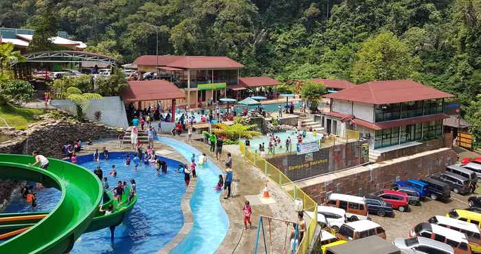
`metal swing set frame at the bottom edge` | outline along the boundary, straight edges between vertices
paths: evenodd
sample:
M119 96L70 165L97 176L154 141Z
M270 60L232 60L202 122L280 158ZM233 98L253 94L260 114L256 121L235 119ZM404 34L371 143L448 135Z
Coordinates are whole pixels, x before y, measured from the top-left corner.
M279 218L273 218L273 217L270 217L270 216L259 216L259 224L258 224L258 227L257 227L257 233L256 233L256 245L254 246L254 254L257 254L257 249L258 249L258 244L259 244L259 235L260 235L260 230L262 229L262 240L264 240L264 250L265 250L265 253L273 253L272 251L272 246L273 246L273 242L272 242L272 231L271 231L271 222L272 221L278 221L278 222L284 222L286 224L286 233L285 233L285 238L284 238L284 254L286 254L286 245L287 245L287 232L289 232L289 225L293 225L294 227L294 236L293 236L293 239L295 239L293 241L293 243L291 244L289 242L289 246L291 246L291 251L289 251L289 253L291 254L295 254L295 249L298 248L298 227L299 227L299 224L297 222L292 222L292 221L289 221L289 220L283 220L283 219L279 219ZM269 225L269 252L267 251L267 242L266 242L266 233L265 233L265 229L264 229L264 223L268 224Z

